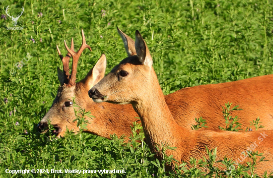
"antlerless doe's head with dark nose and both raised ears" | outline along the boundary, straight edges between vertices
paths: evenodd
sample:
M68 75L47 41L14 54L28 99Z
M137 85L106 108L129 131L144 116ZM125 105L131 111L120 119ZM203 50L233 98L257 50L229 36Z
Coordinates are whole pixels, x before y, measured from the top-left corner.
M152 58L140 33L136 31L136 44L134 43L136 47L134 48L127 45L132 43L126 43L125 40L128 40L128 38L124 38L125 34L119 29L118 31L124 41L129 57L123 59L109 74L96 84L89 91L89 96L93 101L98 103L134 104L142 92L148 92L153 88L153 84L149 84L151 83L150 80L157 80L151 74L151 72L155 73L152 69ZM146 88L139 88L140 85L136 85L139 82L141 82L141 87L144 86ZM137 95L135 95L136 91Z

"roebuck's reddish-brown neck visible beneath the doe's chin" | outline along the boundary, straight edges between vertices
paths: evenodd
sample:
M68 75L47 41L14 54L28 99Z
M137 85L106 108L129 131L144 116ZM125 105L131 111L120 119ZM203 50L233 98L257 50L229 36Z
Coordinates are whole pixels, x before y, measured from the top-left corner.
M91 124L87 124L86 132L110 139L110 134L122 135L132 134L131 125L136 121L136 113L131 105L115 105L111 103L95 103L90 100L88 90L81 87L79 101L85 111L90 111L95 118L88 118ZM126 120L125 120L126 119ZM129 139L127 136L126 140Z

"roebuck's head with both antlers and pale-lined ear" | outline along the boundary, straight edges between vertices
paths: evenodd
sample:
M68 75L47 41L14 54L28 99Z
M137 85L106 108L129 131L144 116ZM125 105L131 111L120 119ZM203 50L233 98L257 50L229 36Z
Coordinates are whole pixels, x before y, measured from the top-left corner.
M46 130L48 126L48 121L51 121L51 124L54 126L55 130L53 131L56 135L63 135L68 129L77 131L76 124L72 121L76 118L72 100L75 98L74 102L80 107L86 107L84 102L84 93L87 95L85 88L91 88L95 83L97 83L103 76L106 66L105 55L102 55L97 61L96 65L88 72L86 77L78 83L75 83L76 80L76 67L77 62L80 57L80 54L85 48L88 48L91 51L91 48L86 44L83 30L82 32L82 45L77 53L74 52L73 39L71 39L71 47L68 48L66 42L65 46L68 50L66 57L61 55L61 52L57 46L57 51L59 57L63 62L63 71L58 67L58 78L60 81L60 87L58 88L58 93L53 101L53 104L44 118L38 123L37 127L40 131ZM69 59L72 57L72 71L71 75L69 74Z

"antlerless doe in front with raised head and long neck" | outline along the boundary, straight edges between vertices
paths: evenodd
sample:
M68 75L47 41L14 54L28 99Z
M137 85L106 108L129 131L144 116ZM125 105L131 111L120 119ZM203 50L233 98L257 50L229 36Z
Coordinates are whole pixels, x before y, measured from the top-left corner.
M89 90L89 96L97 103L132 104L141 119L146 142L151 151L156 153L157 158L162 160L162 153L156 149L156 144L168 144L171 147L177 147L175 150L167 150L166 154L168 156L173 155L179 162L188 163L190 157L202 159L206 155L205 146L208 149L217 147L218 158L223 159L226 155L232 160L241 158L242 152L252 146L253 150L249 151L258 150L260 153L264 153L264 156L269 160L258 162L256 173L261 176L266 170L273 171L273 130L252 132L195 131L180 126L173 118L165 102L152 67L151 55L138 31L136 31L135 49L136 55L123 59L116 65L109 74ZM130 53L128 49L127 52ZM245 81L248 82L249 80ZM243 82L241 81L241 83ZM210 89L207 92L213 92L215 88L212 86L217 85L207 86L211 86L207 88ZM236 90L236 85L230 85L230 87ZM198 91L195 92L198 93ZM259 91L255 92L256 95L260 94ZM213 96L215 94L213 93ZM218 97L225 97L225 95ZM245 96L245 98L248 97ZM196 101L191 102L195 103ZM189 118L181 119L187 120ZM241 160L240 163L244 164L247 161L250 161L249 158ZM217 166L223 169L219 164Z

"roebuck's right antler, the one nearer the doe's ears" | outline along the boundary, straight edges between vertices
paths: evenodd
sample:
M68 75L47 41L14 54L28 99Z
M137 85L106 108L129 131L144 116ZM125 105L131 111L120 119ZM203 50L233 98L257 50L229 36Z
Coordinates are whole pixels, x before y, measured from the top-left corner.
M79 48L79 50L77 51L77 53L75 53L74 51L70 50L67 46L67 43L66 43L66 40L65 40L65 46L66 46L66 49L68 50L68 52L70 53L70 55L72 56L72 71L71 71L71 76L70 76L70 79L68 81L68 87L72 86L72 85L75 85L75 81L76 81L76 73L77 73L77 64L78 64L78 59L80 57L80 54L83 52L83 50L85 48L88 48L90 51L91 48L90 46L88 46L86 44L86 41L85 41L85 37L84 37L84 33L83 33L83 30L81 29L81 36L82 36L82 44Z

